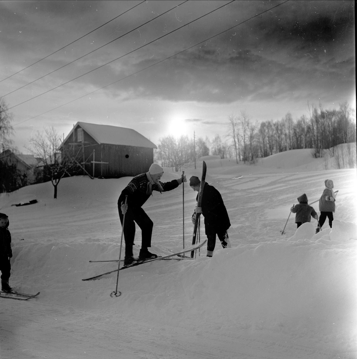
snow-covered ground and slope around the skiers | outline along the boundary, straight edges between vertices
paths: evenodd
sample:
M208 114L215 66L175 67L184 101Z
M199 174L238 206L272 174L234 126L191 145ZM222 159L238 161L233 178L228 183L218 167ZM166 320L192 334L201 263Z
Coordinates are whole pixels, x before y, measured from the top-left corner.
M3 358L356 358L356 169L328 170L311 150L292 150L257 165L207 157L207 178L222 194L232 223L231 249L217 241L195 260L155 261L100 280L117 267L121 226L117 199L130 178L64 178L2 196L14 256L10 285L41 294L0 298ZM185 168L187 178L200 177ZM180 173L167 169L169 181ZM332 230L316 220L296 230L289 209L324 181L339 190ZM184 186L185 248L192 240L196 192ZM182 250L182 186L154 192L144 205L154 222L151 251ZM28 206L11 206L37 199ZM318 202L313 204L318 211ZM319 212L318 212L319 214ZM205 239L201 228L201 239ZM123 241L124 242L124 241ZM137 228L134 254L141 233Z

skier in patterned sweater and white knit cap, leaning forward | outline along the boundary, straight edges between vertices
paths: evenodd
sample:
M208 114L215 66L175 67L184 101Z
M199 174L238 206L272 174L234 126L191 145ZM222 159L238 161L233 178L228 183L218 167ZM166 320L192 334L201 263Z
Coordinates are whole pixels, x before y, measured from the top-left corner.
M164 170L158 164L153 163L149 172L135 176L128 185L122 190L118 199L118 210L121 225L125 214L124 223L124 240L125 240L125 259L124 265L133 262L133 244L135 236L135 223L142 230L142 248L140 249L139 258L156 258L157 255L150 253L148 247L151 247L151 235L153 230L153 222L142 209L142 205L152 196L153 191L167 192L187 182L186 176L182 175L177 180L170 182L159 181ZM125 197L127 201L125 205Z

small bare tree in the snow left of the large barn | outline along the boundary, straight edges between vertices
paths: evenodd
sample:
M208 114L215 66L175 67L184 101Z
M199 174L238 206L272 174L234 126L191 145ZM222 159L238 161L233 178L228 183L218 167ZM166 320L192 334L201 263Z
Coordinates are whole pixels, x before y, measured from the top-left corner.
M54 186L54 198L57 198L57 186L62 177L70 176L70 170L73 168L73 162L70 156L58 151L61 145L61 137L54 127L46 128L43 132L37 132L36 136L30 139L28 148L31 153L42 159L43 179L51 180Z

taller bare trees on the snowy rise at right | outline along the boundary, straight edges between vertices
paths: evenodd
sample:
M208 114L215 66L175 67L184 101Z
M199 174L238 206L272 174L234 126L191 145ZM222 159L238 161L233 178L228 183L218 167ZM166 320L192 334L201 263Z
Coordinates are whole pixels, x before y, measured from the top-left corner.
M312 148L315 157L323 157L324 149L338 144L356 142L356 122L351 109L343 104L338 110L309 108L293 121L287 113L281 121L252 122L245 112L229 117L228 137L236 159L254 162L256 158L291 149ZM333 153L332 153L333 155Z

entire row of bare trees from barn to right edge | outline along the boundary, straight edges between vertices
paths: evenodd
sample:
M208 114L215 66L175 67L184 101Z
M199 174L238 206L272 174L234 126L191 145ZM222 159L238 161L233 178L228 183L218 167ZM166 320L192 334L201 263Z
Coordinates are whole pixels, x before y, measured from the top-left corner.
M338 110L309 107L309 116L303 115L296 121L287 113L280 121L258 123L242 111L240 116L228 117L227 140L222 141L219 135L212 141L207 137L203 140L167 136L159 141L156 160L178 171L183 164L208 154L235 157L237 163L254 163L261 157L302 148L314 149L315 157L323 157L328 149L333 156L338 144L356 142L356 122L346 104Z

